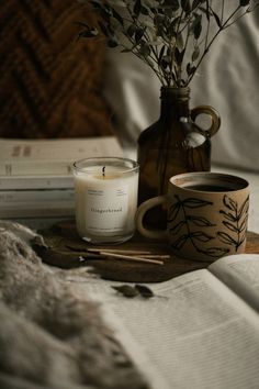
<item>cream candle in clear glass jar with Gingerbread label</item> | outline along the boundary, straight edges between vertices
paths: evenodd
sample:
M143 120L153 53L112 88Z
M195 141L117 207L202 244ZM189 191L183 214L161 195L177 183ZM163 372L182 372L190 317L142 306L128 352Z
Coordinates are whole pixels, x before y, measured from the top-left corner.
M126 158L88 158L74 164L79 235L94 244L132 237L137 209L138 164Z

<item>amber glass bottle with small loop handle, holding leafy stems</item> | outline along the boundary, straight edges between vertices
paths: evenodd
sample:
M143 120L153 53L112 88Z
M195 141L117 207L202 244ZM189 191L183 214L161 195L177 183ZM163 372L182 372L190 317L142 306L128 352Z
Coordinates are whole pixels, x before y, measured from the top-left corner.
M189 109L190 88L161 88L159 120L143 131L138 138L139 203L167 192L171 176L211 169L211 136L221 125L218 113L209 105ZM207 130L195 119L211 116ZM162 214L164 213L164 214ZM148 224L165 224L161 210L148 212Z

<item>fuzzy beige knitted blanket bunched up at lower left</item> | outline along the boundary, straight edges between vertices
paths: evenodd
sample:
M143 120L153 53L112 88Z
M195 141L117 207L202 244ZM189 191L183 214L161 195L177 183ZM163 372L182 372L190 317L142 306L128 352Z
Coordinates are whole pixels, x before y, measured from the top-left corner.
M66 280L75 270L42 264L34 237L0 222L0 388L147 388L99 307Z

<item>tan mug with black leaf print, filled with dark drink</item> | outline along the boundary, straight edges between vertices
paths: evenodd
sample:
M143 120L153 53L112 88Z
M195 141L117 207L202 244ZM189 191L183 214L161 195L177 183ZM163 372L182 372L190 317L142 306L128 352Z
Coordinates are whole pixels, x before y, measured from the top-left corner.
M167 230L145 227L146 212L167 205ZM151 238L167 236L177 256L213 262L245 252L249 184L218 173L187 173L169 179L168 193L143 202L136 213L139 233Z

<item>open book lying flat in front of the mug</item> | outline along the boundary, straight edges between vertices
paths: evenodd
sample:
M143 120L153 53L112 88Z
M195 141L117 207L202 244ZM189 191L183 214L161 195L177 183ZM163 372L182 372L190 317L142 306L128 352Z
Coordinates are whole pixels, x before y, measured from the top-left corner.
M259 388L259 255L149 285L150 299L127 299L114 285L92 279L78 288L103 303L150 388Z

